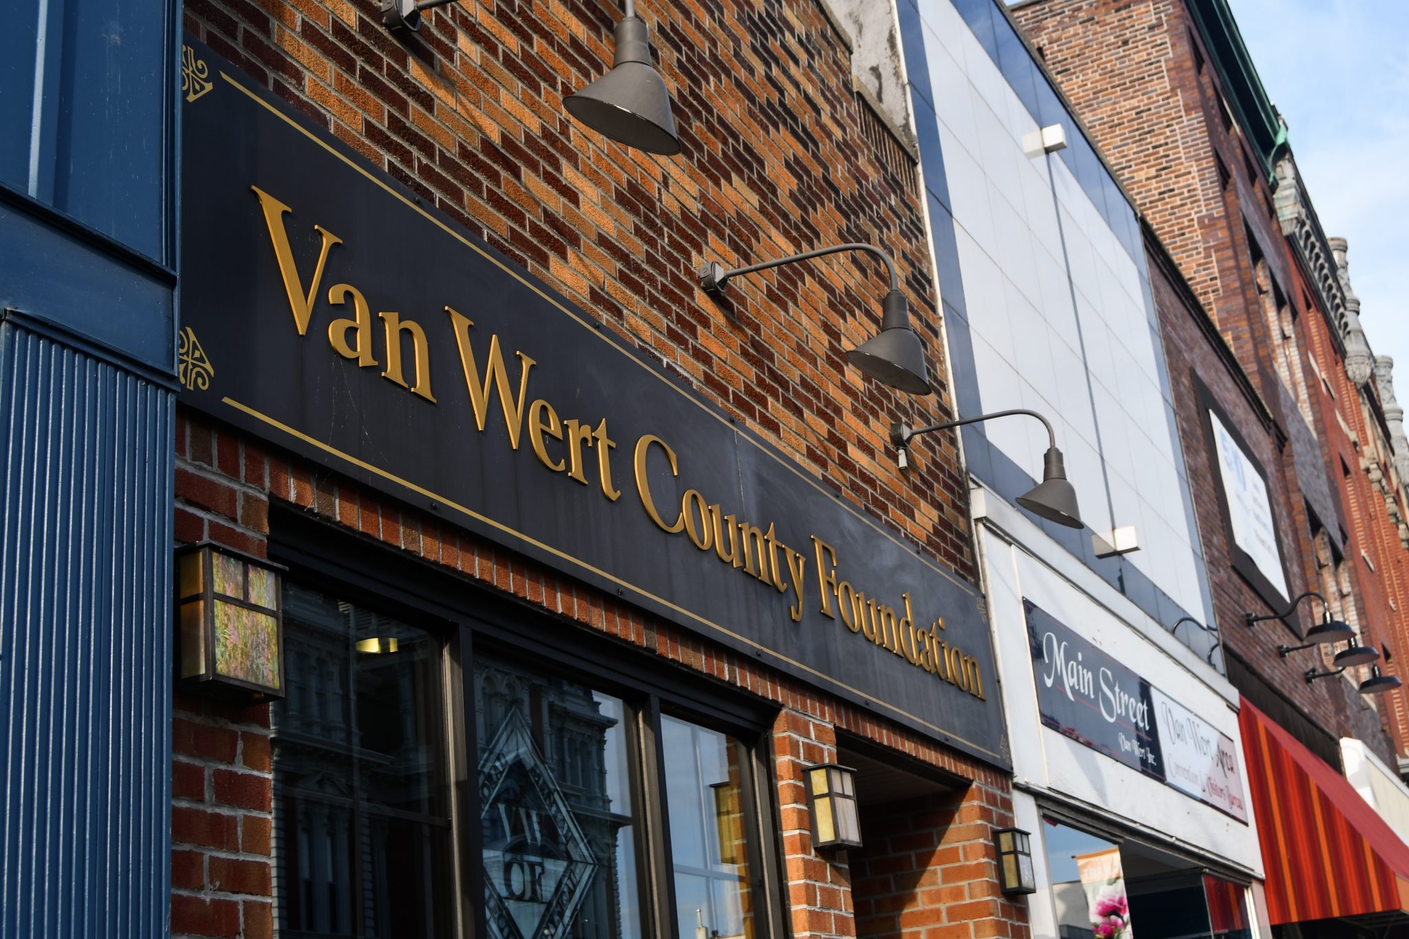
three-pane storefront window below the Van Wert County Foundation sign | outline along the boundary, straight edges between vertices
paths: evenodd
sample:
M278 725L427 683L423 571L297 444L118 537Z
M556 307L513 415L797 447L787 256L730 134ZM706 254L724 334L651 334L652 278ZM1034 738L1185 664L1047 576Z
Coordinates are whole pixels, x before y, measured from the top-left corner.
M445 639L297 583L285 655L287 697L272 711L280 936L643 939L675 926L672 904L685 939L762 935L740 739L657 724L647 694L479 649L466 725L449 707ZM452 790L457 741L472 743L469 787ZM659 877L645 856L668 859ZM459 902L471 883L482 904Z

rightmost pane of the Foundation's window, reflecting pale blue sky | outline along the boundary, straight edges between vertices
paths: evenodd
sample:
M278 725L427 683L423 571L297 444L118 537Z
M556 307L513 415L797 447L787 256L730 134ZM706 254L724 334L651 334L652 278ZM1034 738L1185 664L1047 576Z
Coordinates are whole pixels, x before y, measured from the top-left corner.
M661 718L676 935L754 936L744 825L745 750L727 733Z

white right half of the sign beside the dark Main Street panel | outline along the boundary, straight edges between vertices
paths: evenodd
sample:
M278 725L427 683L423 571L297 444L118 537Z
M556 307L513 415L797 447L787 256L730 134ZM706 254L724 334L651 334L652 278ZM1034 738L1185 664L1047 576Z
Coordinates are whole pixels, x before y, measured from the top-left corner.
M1153 686L1150 701L1154 704L1160 749L1164 752L1165 781L1246 822L1243 771L1233 741Z

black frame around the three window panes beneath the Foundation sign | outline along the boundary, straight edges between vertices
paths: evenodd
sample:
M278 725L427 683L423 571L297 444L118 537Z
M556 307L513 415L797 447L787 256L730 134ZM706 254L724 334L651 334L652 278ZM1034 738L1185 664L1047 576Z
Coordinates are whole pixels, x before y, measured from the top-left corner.
M789 935L786 876L781 839L781 805L772 780L772 726L778 705L750 701L741 693L612 636L565 624L500 590L457 577L389 545L321 519L271 507L269 557L290 569L290 579L334 593L340 600L387 612L442 639L445 669L445 731L452 876L459 897L454 918L461 936L488 935L483 908L483 845L475 760L475 656L531 662L535 669L586 680L621 698L635 715L628 728L633 755L633 801L641 824L637 874L643 905L643 936L674 936L676 924L671 835L665 818L661 715L669 714L738 739L748 755L748 863L761 939ZM545 653L548 653L545 656ZM654 769L652 769L654 767Z

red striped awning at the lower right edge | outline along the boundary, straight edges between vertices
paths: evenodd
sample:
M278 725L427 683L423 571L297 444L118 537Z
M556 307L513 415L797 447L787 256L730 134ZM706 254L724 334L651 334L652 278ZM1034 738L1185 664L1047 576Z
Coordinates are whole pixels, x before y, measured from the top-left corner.
M1409 912L1409 845L1351 784L1243 698L1271 925Z

